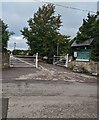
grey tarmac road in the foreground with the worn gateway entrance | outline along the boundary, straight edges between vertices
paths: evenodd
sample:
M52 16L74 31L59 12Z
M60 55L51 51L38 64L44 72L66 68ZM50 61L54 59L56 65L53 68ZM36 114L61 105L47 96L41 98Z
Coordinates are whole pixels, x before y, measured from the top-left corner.
M96 77L41 66L3 70L7 118L97 118Z

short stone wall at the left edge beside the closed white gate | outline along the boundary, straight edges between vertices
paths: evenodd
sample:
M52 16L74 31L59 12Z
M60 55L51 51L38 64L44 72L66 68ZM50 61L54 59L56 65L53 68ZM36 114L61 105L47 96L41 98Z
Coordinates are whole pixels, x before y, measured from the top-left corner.
M9 59L10 55L8 52L2 53L2 68L8 68L10 66Z

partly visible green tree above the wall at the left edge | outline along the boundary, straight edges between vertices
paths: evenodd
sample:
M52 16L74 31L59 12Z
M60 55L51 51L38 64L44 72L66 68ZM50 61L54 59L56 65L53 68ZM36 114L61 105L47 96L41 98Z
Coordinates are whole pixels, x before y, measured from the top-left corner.
M4 52L7 49L9 37L13 34L8 31L8 25L0 19L0 51Z

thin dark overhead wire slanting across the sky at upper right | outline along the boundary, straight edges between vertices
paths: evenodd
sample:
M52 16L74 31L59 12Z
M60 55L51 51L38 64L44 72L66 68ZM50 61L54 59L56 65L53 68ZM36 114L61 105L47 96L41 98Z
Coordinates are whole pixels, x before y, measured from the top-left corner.
M73 9L73 10L79 10L79 11L83 11L83 12L89 12L89 13L94 13L94 14L97 13L95 11L84 10L84 9L80 9L80 8L75 8L75 7L71 7L71 6L60 5L60 4L51 3L51 2L45 2L45 1L42 1L42 0L35 0L35 1L43 2L43 3L47 3L47 4L53 4L53 5L56 5L56 6L60 6L60 7L68 8L68 9Z

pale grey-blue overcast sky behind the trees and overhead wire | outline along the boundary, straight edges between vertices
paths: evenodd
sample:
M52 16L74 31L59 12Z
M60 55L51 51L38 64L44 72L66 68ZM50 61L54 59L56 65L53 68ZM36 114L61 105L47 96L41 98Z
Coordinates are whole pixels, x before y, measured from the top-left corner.
M38 7L41 7L43 4L43 2L2 2L2 18L4 22L8 24L9 31L15 33L8 42L8 49L13 49L14 42L16 42L16 49L28 49L26 40L23 39L20 30L28 26L27 20L33 17ZM57 4L97 11L97 2L57 2ZM83 19L86 19L88 14L88 12L85 11L57 5L55 11L55 15L61 15L62 27L60 28L60 32L63 35L71 36L71 38L76 36Z

